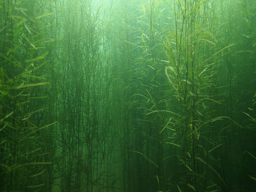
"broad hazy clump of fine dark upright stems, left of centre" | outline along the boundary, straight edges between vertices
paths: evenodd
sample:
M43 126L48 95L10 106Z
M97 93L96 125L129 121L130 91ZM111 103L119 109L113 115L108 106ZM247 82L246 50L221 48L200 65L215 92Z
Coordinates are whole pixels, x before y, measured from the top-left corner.
M116 182L111 18L103 1L60 2L57 13L56 183L65 191L110 191Z

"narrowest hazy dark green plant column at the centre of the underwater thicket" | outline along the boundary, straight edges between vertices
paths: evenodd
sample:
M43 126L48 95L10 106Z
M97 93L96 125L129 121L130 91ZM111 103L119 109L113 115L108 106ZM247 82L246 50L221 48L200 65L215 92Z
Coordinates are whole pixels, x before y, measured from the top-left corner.
M133 146L134 128L134 103L132 93L136 89L134 79L134 55L136 47L133 42L138 34L136 26L136 4L129 0L119 2L119 59L118 59L118 95L116 100L119 102L118 121L119 121L119 145L120 159L122 160L122 190L130 192L134 190L133 180L133 157L131 152ZM116 119L116 120L117 120Z

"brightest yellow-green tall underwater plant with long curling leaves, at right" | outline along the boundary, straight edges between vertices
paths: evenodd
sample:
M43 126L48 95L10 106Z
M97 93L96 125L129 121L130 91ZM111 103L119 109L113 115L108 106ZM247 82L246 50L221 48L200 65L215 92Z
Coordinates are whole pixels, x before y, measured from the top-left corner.
M214 184L215 190L219 186L228 189L215 170L218 162L212 161L214 150L222 145L212 133L216 131L214 122L221 119L215 114L215 108L221 105L215 100L215 74L220 53L232 45L218 48L211 27L217 6L213 1L178 0L168 5L175 23L166 35L169 66L165 72L177 99L175 111L170 111L174 114L170 119L173 131L168 143L179 149L174 155L183 165L183 185L176 186L180 191L208 191Z

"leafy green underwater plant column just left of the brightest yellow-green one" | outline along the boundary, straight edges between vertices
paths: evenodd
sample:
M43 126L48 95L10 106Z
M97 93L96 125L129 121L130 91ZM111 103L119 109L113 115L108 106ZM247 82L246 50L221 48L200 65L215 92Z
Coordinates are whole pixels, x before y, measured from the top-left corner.
M161 2L143 1L138 9L141 14L138 20L141 26L140 36L137 39L140 55L137 56L135 64L140 88L133 98L140 105L140 115L137 119L140 134L137 134L136 140L144 142L138 142L134 148L140 152L137 153L137 159L143 158L142 154L148 158L141 164L138 160L140 169L147 166L149 168L147 173L136 173L137 177L143 178L143 183L138 183L141 186L137 190L164 190L168 186L166 162L163 161L166 149L162 145L166 137L160 134L169 102L169 93L166 92L169 85L166 84L165 67L161 61L165 58L163 36L166 32L166 23L163 22L165 5Z

